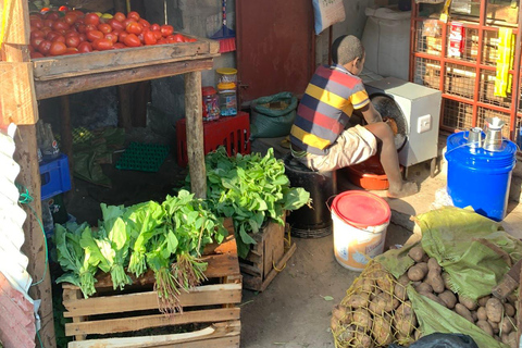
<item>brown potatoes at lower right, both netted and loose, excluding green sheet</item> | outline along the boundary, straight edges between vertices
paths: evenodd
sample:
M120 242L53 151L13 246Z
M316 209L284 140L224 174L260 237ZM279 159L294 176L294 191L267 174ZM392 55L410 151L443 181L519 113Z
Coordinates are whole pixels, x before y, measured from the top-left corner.
M336 347L376 348L390 343L407 346L419 339L421 332L406 291L408 284L495 339L517 347L514 294L504 303L492 295L472 301L450 290L448 274L422 247L413 247L408 254L415 263L398 279L378 263L370 263L334 307L331 328Z

